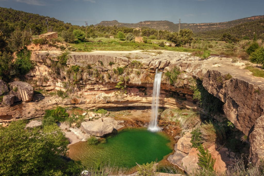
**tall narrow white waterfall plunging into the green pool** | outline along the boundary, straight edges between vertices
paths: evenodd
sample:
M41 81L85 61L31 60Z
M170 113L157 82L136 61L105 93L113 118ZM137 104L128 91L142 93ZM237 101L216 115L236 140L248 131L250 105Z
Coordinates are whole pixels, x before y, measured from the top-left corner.
M151 105L151 120L148 130L155 132L159 131L158 127L158 108L159 108L159 91L161 89L162 72L156 69L155 79L153 83L152 105Z

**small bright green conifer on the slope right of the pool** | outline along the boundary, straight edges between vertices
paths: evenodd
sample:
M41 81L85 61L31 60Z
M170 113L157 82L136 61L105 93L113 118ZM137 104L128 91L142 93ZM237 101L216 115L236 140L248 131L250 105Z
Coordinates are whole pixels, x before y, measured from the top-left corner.
M198 151L200 152L197 154L199 156L198 165L205 170L214 171L215 159L212 158L208 149L204 150L204 147L199 145Z

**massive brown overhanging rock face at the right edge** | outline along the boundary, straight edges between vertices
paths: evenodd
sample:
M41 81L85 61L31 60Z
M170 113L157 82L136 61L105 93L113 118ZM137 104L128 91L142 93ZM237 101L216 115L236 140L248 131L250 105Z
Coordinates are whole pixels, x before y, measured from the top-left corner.
M202 84L209 93L224 102L224 113L235 127L249 136L250 155L257 161L257 158L264 158L264 85L260 82L264 79L259 78L257 82L249 78L244 75L243 79L225 80L225 74L208 70Z

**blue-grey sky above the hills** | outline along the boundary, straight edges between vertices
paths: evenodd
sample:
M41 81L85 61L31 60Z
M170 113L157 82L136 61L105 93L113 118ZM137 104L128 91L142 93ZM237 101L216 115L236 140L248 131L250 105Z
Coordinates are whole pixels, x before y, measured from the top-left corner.
M54 17L74 25L117 20L137 23L224 22L264 15L264 0L0 0L0 7Z

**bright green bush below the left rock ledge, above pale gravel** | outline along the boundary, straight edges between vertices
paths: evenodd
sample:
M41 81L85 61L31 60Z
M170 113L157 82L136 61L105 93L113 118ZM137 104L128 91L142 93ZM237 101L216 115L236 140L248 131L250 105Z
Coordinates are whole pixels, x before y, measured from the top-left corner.
M48 117L53 117L55 122L64 122L68 118L69 114L66 112L66 109L63 107L56 107L53 110L46 110L43 119Z

